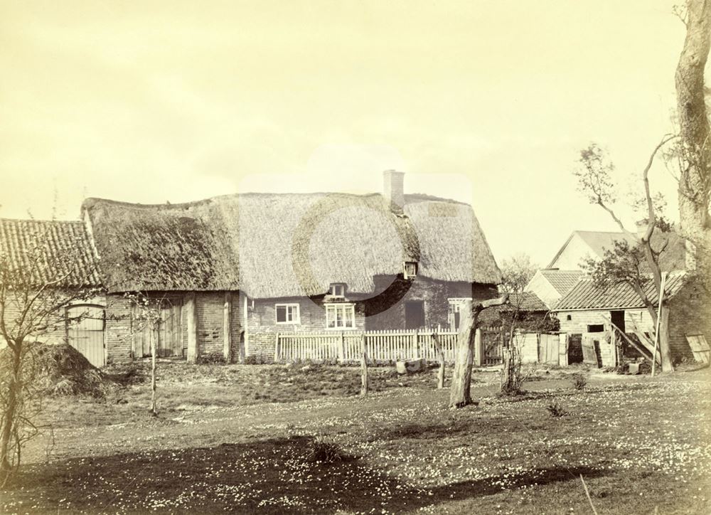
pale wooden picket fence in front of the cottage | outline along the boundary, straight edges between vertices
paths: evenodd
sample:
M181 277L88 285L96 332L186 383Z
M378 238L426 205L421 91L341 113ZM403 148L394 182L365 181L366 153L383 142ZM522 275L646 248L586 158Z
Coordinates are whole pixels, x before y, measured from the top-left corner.
M474 361L477 365L501 363L501 345L481 344L487 340L477 330ZM349 362L360 359L362 339L365 339L368 361L390 363L406 359L437 361L434 339L439 339L444 360L454 361L455 331L401 329L396 331L326 331L321 333L279 333L274 349L274 361Z

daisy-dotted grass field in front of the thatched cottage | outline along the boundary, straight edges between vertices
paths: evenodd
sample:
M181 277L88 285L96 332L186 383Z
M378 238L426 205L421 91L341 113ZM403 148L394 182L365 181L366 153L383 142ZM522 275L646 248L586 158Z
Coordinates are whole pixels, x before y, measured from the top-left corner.
M669 376L540 371L526 395L447 409L434 371L161 363L114 371L102 401L48 403L1 513L711 513L708 369ZM554 417L557 404L565 412ZM53 435L53 443L52 443ZM333 445L341 460L319 462ZM655 511L657 510L657 511Z

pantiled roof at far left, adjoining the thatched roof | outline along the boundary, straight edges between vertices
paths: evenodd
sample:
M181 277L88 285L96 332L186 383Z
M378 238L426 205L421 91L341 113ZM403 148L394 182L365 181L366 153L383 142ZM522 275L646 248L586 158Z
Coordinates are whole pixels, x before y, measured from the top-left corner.
M0 218L0 259L31 273L36 285L99 286L92 247L79 221Z

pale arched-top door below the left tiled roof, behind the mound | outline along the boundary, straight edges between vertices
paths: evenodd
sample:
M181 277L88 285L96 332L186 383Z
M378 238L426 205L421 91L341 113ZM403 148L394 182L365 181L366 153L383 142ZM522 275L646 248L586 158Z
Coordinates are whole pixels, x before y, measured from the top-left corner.
M106 364L104 308L80 305L67 308L67 341L93 366Z

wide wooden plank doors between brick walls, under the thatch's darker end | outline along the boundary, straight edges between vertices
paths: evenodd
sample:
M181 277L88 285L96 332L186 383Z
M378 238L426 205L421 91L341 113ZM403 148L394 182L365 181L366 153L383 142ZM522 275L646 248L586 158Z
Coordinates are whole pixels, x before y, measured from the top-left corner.
M181 307L166 302L160 307L155 322L132 312L133 353L136 358L151 355L151 344L156 344L156 356L166 358L183 356Z

